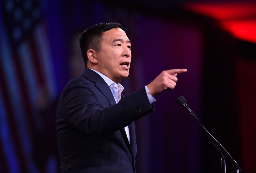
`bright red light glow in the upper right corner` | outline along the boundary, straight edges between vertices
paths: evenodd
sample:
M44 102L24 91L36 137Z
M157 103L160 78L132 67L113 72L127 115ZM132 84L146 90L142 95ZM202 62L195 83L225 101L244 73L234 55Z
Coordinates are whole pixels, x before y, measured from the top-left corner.
M256 43L256 3L187 3L185 8L218 20L238 39Z

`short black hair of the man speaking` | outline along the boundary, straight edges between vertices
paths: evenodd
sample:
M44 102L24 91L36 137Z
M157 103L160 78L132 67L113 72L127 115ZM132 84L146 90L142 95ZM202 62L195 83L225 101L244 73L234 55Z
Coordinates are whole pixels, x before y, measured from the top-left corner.
M79 44L85 68L87 68L88 62L87 51L89 49L100 51L103 33L113 28L123 29L119 23L99 23L87 28L79 35Z

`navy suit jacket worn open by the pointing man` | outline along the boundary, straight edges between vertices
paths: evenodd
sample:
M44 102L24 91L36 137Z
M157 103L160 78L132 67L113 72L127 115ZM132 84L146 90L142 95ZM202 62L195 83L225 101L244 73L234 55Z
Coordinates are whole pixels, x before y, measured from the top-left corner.
M135 172L134 122L152 112L145 88L116 104L106 82L85 69L63 89L56 112L61 172ZM130 143L124 127L129 125Z

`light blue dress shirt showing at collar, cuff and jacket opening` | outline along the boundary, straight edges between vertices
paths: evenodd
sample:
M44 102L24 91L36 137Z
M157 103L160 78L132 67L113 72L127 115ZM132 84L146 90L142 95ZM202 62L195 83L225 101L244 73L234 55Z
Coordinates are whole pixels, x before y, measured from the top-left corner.
M115 102L118 103L121 99L121 93L124 89L124 87L121 85L121 84L116 84L115 82L113 82L110 78L108 78L107 76L105 76L104 74L94 70L94 69L91 69L93 71L95 71L96 73L98 73L102 79L108 84L108 86L110 87L110 90L112 91L112 94L115 98ZM148 100L150 102L150 104L154 103L156 100L155 98L151 95L151 94L148 94L148 87L145 86L145 89L146 89L146 93L147 93L147 96L148 96ZM128 141L130 143L130 133L129 133L129 128L128 126L125 127L125 132L126 132L126 135L127 135L127 138L128 138Z

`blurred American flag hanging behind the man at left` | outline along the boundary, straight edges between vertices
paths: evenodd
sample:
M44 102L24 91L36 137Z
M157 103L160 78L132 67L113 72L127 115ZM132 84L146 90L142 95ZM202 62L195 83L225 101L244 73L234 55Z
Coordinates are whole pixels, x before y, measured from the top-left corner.
M57 95L42 3L1 2L0 172L4 173L56 171L55 158L48 157L40 166L34 156L37 132L45 128L38 98L40 93L49 100Z

